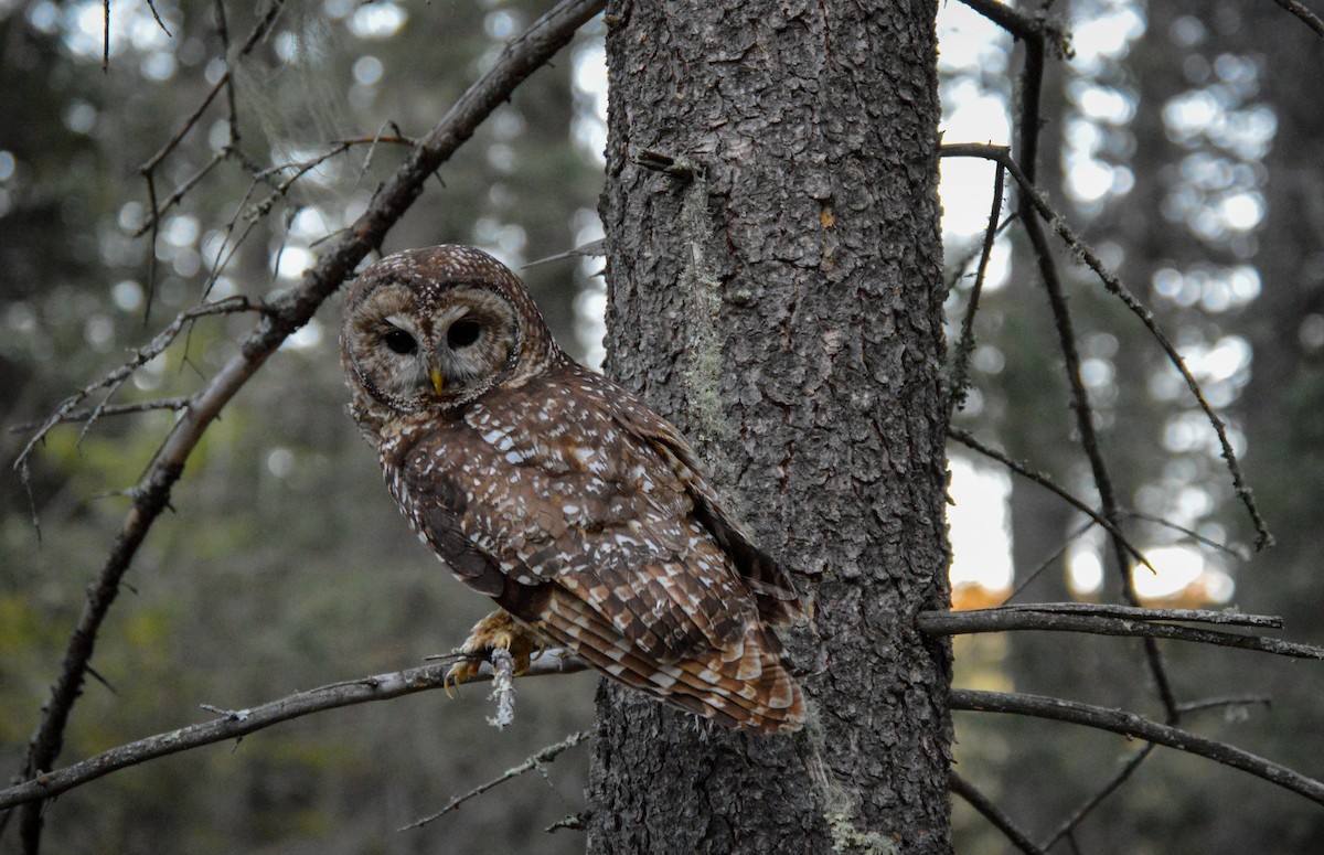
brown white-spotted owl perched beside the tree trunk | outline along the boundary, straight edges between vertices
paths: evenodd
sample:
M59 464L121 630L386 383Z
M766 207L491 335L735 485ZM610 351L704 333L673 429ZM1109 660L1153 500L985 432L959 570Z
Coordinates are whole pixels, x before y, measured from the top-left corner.
M469 246L397 253L344 302L351 413L420 540L499 609L450 672L567 647L728 727L801 727L773 625L788 574L723 510L688 442L552 340L524 285Z

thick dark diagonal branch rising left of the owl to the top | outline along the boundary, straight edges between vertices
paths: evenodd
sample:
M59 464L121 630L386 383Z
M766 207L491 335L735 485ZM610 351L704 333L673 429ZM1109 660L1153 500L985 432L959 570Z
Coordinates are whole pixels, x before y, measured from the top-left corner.
M69 712L82 690L97 633L119 594L120 578L128 570L152 523L166 508L171 488L183 474L185 461L208 425L281 343L306 324L323 300L354 274L359 262L381 245L387 232L422 193L432 173L510 98L520 82L568 44L575 32L601 11L602 4L604 0L561 0L523 36L511 41L491 70L461 95L395 175L377 188L368 209L357 221L338 236L314 267L305 271L299 285L269 304L267 315L242 339L238 353L193 397L184 417L166 438L147 474L134 490L134 507L111 545L98 580L89 589L87 602L69 639L61 674L44 707L41 725L29 744L24 777L49 769L60 754ZM30 851L37 848L40 827L40 802L36 802L24 814L24 840Z

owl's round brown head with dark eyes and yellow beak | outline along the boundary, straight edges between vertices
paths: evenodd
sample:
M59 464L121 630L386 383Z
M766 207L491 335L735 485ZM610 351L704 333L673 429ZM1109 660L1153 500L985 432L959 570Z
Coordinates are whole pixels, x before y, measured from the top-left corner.
M344 300L340 361L355 393L393 414L453 409L523 385L560 351L524 283L471 246L388 255Z

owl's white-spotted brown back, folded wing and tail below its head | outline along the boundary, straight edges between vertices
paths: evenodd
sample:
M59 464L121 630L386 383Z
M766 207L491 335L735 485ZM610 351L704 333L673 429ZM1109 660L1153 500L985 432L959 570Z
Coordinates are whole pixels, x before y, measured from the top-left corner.
M598 670L728 724L798 723L760 619L764 600L793 602L789 584L745 578L740 561L776 565L632 396L577 372L489 396L400 471L406 514L457 576Z

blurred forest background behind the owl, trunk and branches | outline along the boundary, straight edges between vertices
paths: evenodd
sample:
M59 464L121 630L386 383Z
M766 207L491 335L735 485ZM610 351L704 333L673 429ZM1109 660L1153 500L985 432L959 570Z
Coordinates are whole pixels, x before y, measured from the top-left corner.
M115 4L107 44L99 3L0 4L7 428L46 417L204 292L256 299L287 289L319 241L367 204L392 146L432 127L542 12L534 3L287 4L267 37L232 60L238 122L213 106L177 154L148 171L158 209L175 188L189 188L158 221L140 167L225 71L216 58L220 8ZM1278 539L1250 557L1255 533L1204 416L1144 331L1078 271L1083 373L1125 504L1231 547L1210 548L1137 516L1160 570L1137 573L1137 585L1156 605L1280 614L1294 638L1320 643L1324 111L1307 83L1324 50L1268 1L1078 0L1051 13L1071 33L1071 54L1050 68L1043 148L1053 154L1038 183L1169 331L1231 425ZM225 15L237 41L261 9ZM560 341L589 363L601 360L600 259L526 265L600 236L601 34L601 21L585 28L485 123L384 246L490 249L531 285ZM951 3L940 38L944 140L1009 143L1010 37ZM343 154L322 159L342 140ZM267 180L254 181L237 158L216 158L228 147L270 169ZM955 322L972 285L959 262L981 241L993 171L952 160L943 168ZM973 389L957 425L1088 495L1030 263L1014 241L996 246ZM208 431L172 496L177 512L152 532L131 593L103 630L98 679L74 713L66 758L205 717L201 703L242 707L416 664L486 613L486 601L438 573L409 536L343 414L338 308L332 300L293 338ZM230 356L248 323L221 316L193 326L117 401L189 393L199 372ZM172 420L152 412L102 418L86 434L61 428L28 458L26 484L15 472L0 487L7 768L20 765L83 586L120 525L120 491ZM29 435L0 437L5 461ZM1116 598L1099 532L1082 531L1071 508L996 463L955 443L951 454L959 605L1001 602L1013 589L1018 601ZM1247 699L1204 713L1205 732L1324 774L1312 700L1324 676L1312 666L1165 651L1184 695ZM956 683L1144 709L1153 701L1143 679L1120 692L1108 679L1141 674L1139 656L1137 645L1092 637L978 637L957 643ZM395 829L588 727L593 682L522 684L516 727L504 732L485 721L485 691L458 701L428 694L154 761L61 797L48 846L581 851L579 832L543 831L584 807L585 758L576 752L454 817ZM1135 750L1120 737L989 716L959 716L957 739L961 773L1038 831ZM959 851L1004 844L960 802L956 819ZM1164 754L1078 836L1090 852L1311 851L1324 846L1324 814L1237 772ZM12 846L11 831L0 851Z

